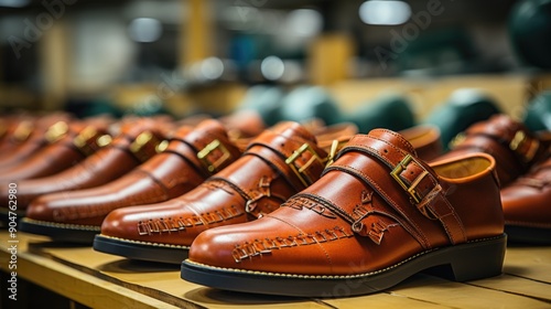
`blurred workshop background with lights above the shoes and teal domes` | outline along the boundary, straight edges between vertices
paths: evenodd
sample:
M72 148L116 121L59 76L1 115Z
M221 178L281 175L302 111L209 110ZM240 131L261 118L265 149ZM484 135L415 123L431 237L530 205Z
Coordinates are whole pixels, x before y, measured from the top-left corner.
M511 115L551 88L550 1L0 0L0 109L227 115L252 87L343 110L461 88ZM247 99L250 99L248 97Z

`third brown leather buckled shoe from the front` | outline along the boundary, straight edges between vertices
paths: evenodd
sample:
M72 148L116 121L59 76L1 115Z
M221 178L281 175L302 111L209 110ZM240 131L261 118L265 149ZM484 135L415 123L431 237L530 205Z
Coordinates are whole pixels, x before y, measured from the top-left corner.
M112 210L179 196L241 154L216 120L184 129L166 150L107 184L46 194L34 200L20 230L56 241L90 244Z

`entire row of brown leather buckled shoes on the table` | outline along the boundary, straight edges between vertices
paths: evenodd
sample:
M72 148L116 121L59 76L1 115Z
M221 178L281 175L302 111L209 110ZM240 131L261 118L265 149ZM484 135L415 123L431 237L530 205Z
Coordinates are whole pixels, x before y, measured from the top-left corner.
M445 153L430 125L3 124L0 185L17 189L0 193L3 220L15 195L20 231L181 264L183 279L209 287L365 295L426 269L499 275L507 237L551 243L551 134L506 115L469 126Z

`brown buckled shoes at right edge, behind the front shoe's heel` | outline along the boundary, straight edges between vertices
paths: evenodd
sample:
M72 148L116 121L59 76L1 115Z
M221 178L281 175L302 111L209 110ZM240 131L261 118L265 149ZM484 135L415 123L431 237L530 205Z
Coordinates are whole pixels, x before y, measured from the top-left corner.
M506 115L468 128L444 158L483 151L496 159L510 242L551 244L551 132Z

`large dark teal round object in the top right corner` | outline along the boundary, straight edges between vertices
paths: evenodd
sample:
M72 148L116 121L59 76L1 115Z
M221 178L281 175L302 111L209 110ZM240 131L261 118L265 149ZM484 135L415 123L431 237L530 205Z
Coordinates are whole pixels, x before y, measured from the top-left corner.
M522 61L551 68L551 0L519 1L511 11L509 34Z

